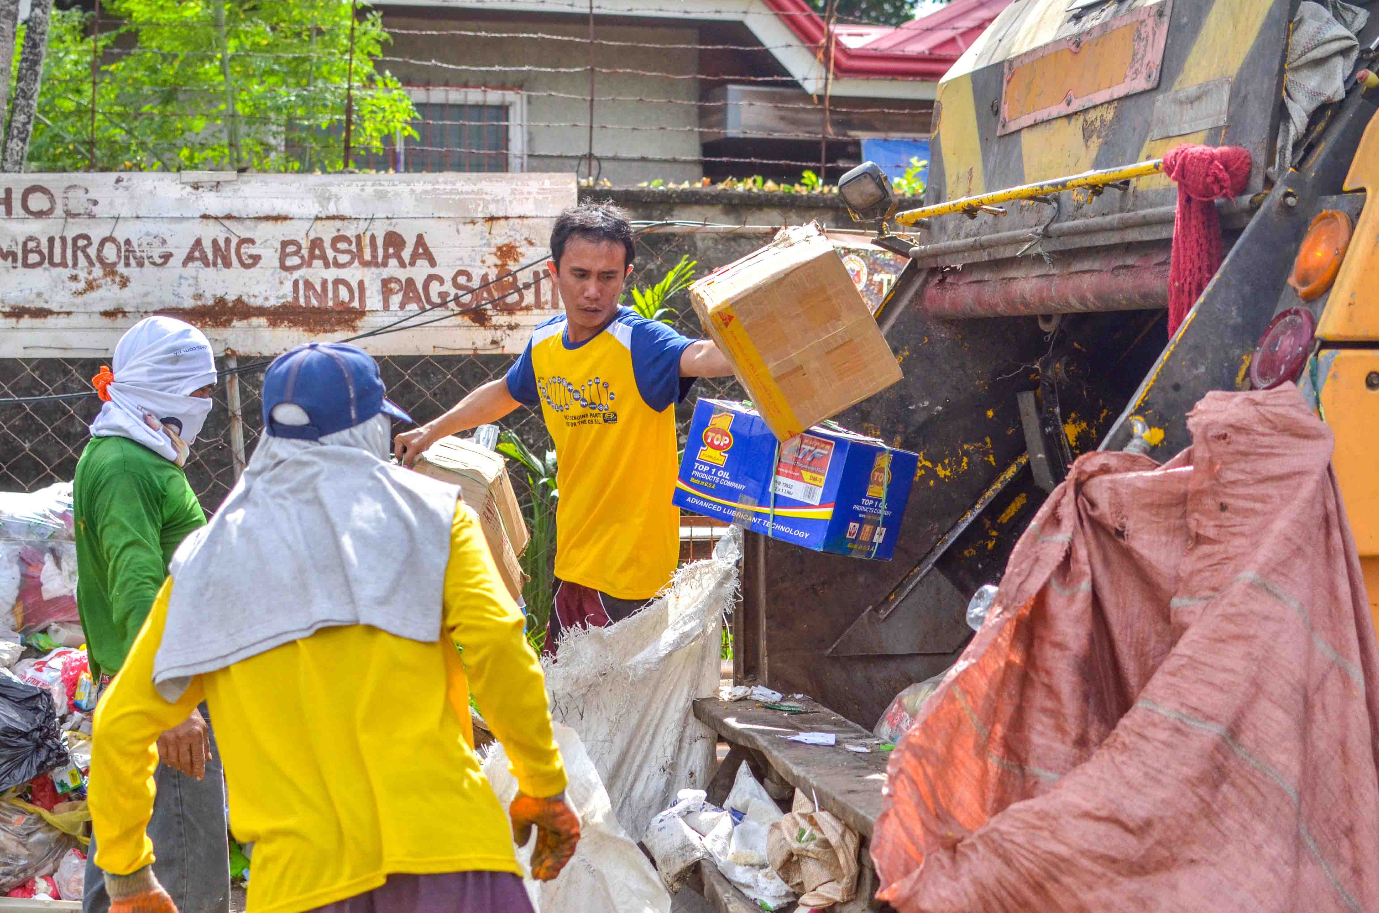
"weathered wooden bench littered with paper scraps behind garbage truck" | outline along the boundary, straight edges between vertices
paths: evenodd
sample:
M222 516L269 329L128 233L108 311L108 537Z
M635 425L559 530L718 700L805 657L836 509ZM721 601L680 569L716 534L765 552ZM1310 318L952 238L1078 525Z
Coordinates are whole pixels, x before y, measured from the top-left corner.
M880 752L881 739L860 725L808 698L787 699L804 713L785 713L758 706L756 701L717 701L703 698L694 702L695 717L712 728L729 745L728 756L709 781L709 801L723 804L732 789L738 767L747 761L772 796L782 794L779 786L804 790L819 807L837 815L843 823L862 834L855 901L834 907L840 913L880 909L872 898L877 891L876 872L872 869L870 839L877 815L881 814L885 786L885 765L889 752ZM787 735L800 732L830 732L836 745L804 745ZM869 748L869 753L848 750L848 745ZM783 790L785 794L789 789ZM782 800L782 805L786 803ZM720 912L742 909L729 906L724 895L731 891L742 903L752 905L736 888L703 881L702 892ZM698 885L694 885L698 888ZM727 891L725 891L727 890ZM714 896L710 896L714 895ZM720 899L723 898L723 899Z

